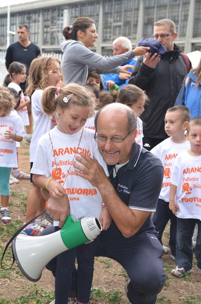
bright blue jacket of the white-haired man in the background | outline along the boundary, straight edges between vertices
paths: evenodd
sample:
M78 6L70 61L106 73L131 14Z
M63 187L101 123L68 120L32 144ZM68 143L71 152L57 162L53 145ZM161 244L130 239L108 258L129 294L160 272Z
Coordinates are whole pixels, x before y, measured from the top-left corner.
M123 63L122 66L126 65L126 64L132 64L133 66L135 66L136 61L134 58L128 60L127 62ZM128 69L129 72L132 72L132 69L129 68ZM104 90L105 91L109 91L109 88L106 87L106 82L108 80L112 80L115 85L117 85L119 87L119 91L120 89L122 89L122 87L124 87L125 85L128 85L129 79L128 80L122 80L118 77L118 74L102 74L102 81L103 81L103 85L104 85Z

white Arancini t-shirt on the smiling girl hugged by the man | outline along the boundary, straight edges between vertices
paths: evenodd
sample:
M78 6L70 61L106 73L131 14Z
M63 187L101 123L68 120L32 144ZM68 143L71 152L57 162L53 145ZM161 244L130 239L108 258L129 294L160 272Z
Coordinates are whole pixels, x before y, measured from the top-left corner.
M99 153L94 133L94 130L84 128L76 156L85 153L91 158L95 157L108 176L107 166ZM77 170L72 165L72 161L73 163L78 163L74 155L82 130L73 135L68 135L60 132L55 127L50 131L50 134L52 144L48 133L43 135L38 141L31 173L46 177L52 176L61 183L68 195L70 214L74 215L75 218L81 216L96 216L99 218L102 211L102 198L98 189L86 179L77 176ZM53 150L55 157L53 156ZM67 178L66 174L68 174Z

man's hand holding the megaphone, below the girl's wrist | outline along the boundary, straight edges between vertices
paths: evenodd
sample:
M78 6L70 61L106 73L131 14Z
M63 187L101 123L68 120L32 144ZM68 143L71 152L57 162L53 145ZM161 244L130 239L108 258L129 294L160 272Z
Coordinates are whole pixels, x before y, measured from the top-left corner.
M54 220L59 220L59 227L61 228L67 215L70 214L68 198L66 196L61 199L50 197L47 204L47 213L50 214Z

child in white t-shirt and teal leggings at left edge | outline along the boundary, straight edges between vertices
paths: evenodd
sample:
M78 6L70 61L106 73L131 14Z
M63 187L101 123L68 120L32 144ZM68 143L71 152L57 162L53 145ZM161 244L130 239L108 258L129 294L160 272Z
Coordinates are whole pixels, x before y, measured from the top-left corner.
M22 120L13 110L15 104L15 99L10 91L5 87L0 87L0 188L2 201L0 214L3 223L11 221L8 209L9 179L12 167L17 166L16 142L22 141L23 137L26 136Z

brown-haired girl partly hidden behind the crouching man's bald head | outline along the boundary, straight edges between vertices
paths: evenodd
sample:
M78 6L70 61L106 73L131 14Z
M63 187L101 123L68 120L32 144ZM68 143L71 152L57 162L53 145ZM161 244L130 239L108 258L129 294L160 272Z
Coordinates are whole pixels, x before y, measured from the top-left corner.
M116 102L120 102L128 105L132 110L135 111L137 115L137 136L136 142L143 146L142 138L143 135L143 125L142 120L139 118L142 112L144 112L144 104L148 101L148 96L145 91L138 88L135 85L124 86L118 95Z

